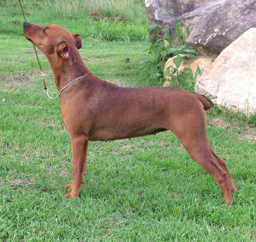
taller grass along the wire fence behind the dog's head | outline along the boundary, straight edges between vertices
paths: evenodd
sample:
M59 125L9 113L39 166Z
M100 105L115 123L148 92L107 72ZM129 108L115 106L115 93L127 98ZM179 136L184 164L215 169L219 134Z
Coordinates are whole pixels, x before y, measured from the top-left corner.
M143 1L139 0L72 0L72 1L28 1L23 0L23 7L28 22L39 25L58 24L72 33L84 37L104 40L137 40L146 38L147 18ZM24 22L19 1L1 1L0 33L22 35L20 24ZM121 22L107 19L94 21L90 13L97 12L104 17L119 14ZM17 24L20 23L20 24Z

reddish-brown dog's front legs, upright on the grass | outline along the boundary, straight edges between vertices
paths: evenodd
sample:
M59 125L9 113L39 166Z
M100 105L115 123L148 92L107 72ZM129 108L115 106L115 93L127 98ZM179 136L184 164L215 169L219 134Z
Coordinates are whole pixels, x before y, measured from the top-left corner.
M66 198L78 196L80 187L84 183L85 161L87 156L88 138L86 136L70 136L73 156L73 183L64 188L72 188L70 193L65 194Z

